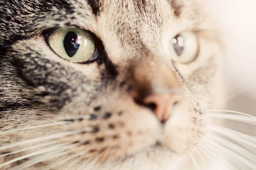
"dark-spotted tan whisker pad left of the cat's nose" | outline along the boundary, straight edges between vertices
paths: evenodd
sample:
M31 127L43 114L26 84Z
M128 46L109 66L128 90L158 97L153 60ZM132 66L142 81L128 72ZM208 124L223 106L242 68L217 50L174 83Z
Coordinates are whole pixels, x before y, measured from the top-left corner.
M108 96L108 100L102 101L105 96ZM131 99L126 97L116 99L113 94L102 94L96 100L97 103L104 103L104 105L100 105L101 109L99 111L93 111L97 119L74 121L63 129L64 131L90 127L97 127L98 129L96 133L88 132L61 138L61 142L72 143L78 141L86 143L84 146L76 147L72 152L93 150L93 152L86 153L84 157L99 158L99 161L115 160L151 146L163 137L159 122L154 114L137 106ZM113 102L115 102L115 105L113 105ZM81 116L84 116L85 114L82 113L88 113L87 110L92 105L94 105L93 102L90 106L83 107L84 112L81 112L82 108L78 111L78 108L74 106L72 106L72 112L67 111L68 107L66 107L67 109L63 109L62 116L66 114L72 118L70 115L76 115L78 112L81 113ZM111 116L104 118L106 112L110 113ZM97 139L102 140L97 141Z

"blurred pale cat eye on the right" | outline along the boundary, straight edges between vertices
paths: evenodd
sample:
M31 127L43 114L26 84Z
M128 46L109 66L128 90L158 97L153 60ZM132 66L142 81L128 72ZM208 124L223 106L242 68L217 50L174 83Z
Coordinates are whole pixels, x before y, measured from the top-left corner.
M198 40L193 32L176 35L169 45L170 56L176 62L192 62L198 54Z

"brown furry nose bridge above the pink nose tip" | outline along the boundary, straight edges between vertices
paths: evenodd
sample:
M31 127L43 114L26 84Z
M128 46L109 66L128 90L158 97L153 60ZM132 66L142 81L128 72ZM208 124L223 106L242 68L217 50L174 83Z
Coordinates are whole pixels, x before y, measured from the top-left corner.
M135 91L141 93L142 97L151 93L163 94L180 89L175 72L157 58L150 57L146 61L136 62L131 70Z

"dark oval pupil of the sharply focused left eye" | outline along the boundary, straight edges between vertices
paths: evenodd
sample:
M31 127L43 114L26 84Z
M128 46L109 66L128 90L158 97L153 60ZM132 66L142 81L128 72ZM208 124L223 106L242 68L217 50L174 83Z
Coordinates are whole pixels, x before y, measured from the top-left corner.
M64 39L64 48L69 57L73 57L79 48L78 37L76 33L69 32Z

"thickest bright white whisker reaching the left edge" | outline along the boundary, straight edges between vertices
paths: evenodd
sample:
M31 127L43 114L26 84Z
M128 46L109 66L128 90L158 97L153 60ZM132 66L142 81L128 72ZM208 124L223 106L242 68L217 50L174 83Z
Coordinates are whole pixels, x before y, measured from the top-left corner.
M62 133L52 134L52 135L45 136L45 137L29 139L29 140L25 140L25 141L22 141L22 142L17 142L17 143L14 143L14 144L10 144L8 146L3 146L3 147L0 147L0 150L4 150L4 149L10 148L10 147L15 147L15 146L21 145L21 144L46 141L46 140L49 140L49 139L55 139L55 138L60 138L60 137L64 137L64 136L71 136L71 135L75 135L75 134L79 134L79 133L83 133L83 132L94 132L95 130L96 130L95 127L87 127L87 128L80 129L80 130L73 130L73 131L69 131L69 132L62 132Z

